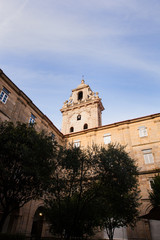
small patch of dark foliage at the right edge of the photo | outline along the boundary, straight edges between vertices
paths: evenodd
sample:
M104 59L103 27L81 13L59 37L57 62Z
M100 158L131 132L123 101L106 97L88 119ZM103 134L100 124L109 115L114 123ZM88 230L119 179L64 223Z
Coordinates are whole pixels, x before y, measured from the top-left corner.
M149 192L149 199L153 207L160 206L160 175L153 178L151 183L152 191Z

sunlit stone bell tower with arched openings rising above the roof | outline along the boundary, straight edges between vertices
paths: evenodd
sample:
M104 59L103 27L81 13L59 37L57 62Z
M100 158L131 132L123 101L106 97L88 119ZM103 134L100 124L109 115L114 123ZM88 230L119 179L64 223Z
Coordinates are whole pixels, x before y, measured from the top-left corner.
M102 126L103 110L98 92L94 93L82 79L81 84L72 90L69 101L65 101L61 109L62 133L68 134Z

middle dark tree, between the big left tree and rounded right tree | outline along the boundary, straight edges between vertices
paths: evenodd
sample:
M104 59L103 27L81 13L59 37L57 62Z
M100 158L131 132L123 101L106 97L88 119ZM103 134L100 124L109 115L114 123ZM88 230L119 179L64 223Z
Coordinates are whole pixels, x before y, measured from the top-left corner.
M97 225L95 196L96 163L92 150L60 147L53 185L46 200L46 217L51 232L70 237L92 235Z

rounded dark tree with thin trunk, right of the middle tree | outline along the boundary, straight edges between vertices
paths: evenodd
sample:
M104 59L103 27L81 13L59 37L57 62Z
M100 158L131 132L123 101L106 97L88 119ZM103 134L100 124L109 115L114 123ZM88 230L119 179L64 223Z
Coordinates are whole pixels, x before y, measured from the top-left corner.
M124 147L110 144L99 150L99 219L110 240L115 228L134 225L138 216L137 167Z

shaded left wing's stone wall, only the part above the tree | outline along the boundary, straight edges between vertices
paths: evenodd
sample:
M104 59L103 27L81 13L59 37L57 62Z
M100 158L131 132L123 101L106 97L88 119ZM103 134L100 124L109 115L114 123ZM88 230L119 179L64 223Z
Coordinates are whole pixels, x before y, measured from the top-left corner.
M29 123L34 121L37 131L53 133L59 144L63 145L64 136L35 104L0 70L0 94L7 95L6 102L0 99L0 120Z

